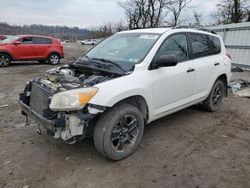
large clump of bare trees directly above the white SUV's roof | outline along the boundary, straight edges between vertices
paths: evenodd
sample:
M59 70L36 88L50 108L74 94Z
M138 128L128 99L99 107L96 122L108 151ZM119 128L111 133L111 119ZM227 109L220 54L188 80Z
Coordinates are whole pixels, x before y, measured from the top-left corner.
M183 9L192 0L126 0L118 5L125 10L128 26L132 28L157 27L163 23L176 26ZM164 16L165 15L165 16Z

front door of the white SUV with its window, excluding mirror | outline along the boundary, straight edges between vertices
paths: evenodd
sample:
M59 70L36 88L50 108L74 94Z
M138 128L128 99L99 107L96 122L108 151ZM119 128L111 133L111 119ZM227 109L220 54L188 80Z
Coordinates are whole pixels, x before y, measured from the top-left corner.
M191 101L195 69L188 59L186 34L168 37L160 47L155 58L162 55L175 55L178 64L152 70L154 117Z

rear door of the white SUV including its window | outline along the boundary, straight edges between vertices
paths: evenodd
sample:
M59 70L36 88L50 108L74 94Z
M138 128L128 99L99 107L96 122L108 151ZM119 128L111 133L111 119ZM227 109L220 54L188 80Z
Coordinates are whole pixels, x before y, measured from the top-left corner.
M188 33L191 58L195 67L194 95L205 95L215 74L215 59L211 56L208 35ZM201 96L198 96L198 98Z

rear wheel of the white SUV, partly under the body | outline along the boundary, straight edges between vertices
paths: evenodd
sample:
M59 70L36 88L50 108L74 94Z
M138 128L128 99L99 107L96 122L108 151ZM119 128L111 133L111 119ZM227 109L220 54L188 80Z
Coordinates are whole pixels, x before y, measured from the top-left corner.
M217 80L209 96L203 102L203 108L209 112L219 111L221 108L224 95L225 95L224 83L221 80Z

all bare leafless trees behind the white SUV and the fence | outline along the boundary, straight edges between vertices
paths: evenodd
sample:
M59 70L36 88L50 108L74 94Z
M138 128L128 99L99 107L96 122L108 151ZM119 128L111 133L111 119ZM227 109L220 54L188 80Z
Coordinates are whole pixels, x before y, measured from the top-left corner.
M185 24L183 10L191 9L192 0L120 0L118 5L125 11L130 29L157 26L175 27ZM211 13L214 24L230 24L250 21L249 0L221 0ZM201 26L202 14L193 10L194 22Z

